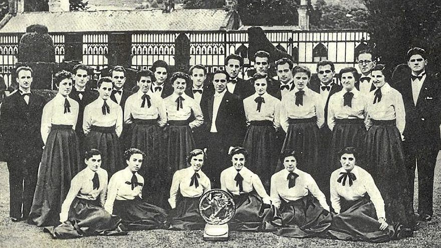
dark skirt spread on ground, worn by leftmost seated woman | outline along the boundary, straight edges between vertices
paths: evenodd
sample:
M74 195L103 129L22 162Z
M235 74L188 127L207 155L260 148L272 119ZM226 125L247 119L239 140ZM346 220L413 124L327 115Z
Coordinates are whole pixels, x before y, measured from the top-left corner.
M44 228L53 238L67 239L85 236L127 235L121 218L108 213L98 200L75 198L68 220L58 226Z

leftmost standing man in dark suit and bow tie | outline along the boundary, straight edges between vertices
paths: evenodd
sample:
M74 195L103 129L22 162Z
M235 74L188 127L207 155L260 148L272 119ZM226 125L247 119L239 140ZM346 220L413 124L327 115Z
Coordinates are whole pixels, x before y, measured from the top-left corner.
M19 90L5 99L0 111L0 132L6 140L12 221L29 215L44 145L40 127L46 101L31 91L32 79L31 68L17 68Z

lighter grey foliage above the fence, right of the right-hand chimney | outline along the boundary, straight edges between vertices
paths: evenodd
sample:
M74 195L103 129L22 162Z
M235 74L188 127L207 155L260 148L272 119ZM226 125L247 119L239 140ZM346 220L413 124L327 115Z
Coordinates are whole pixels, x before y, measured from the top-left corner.
M311 29L364 29L367 26L368 11L353 5L327 4L317 0L310 11Z

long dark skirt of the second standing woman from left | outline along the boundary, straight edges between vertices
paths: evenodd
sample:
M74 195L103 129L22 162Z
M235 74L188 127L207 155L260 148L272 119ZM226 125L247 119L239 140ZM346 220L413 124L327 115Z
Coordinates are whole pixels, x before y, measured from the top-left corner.
M92 126L87 134L87 148L96 148L101 152L101 168L109 174L109 178L117 171L125 168L121 159L121 146L115 127Z

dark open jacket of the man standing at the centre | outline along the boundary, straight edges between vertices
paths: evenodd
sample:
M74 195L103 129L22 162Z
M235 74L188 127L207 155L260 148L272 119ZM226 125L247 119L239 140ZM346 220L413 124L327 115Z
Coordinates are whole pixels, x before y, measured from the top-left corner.
M206 132L209 132L211 128L213 101L214 95L209 96L202 108ZM218 134L223 137L224 145L242 145L245 136L245 127L246 120L242 100L227 91L222 102L220 102L216 117L216 129Z

